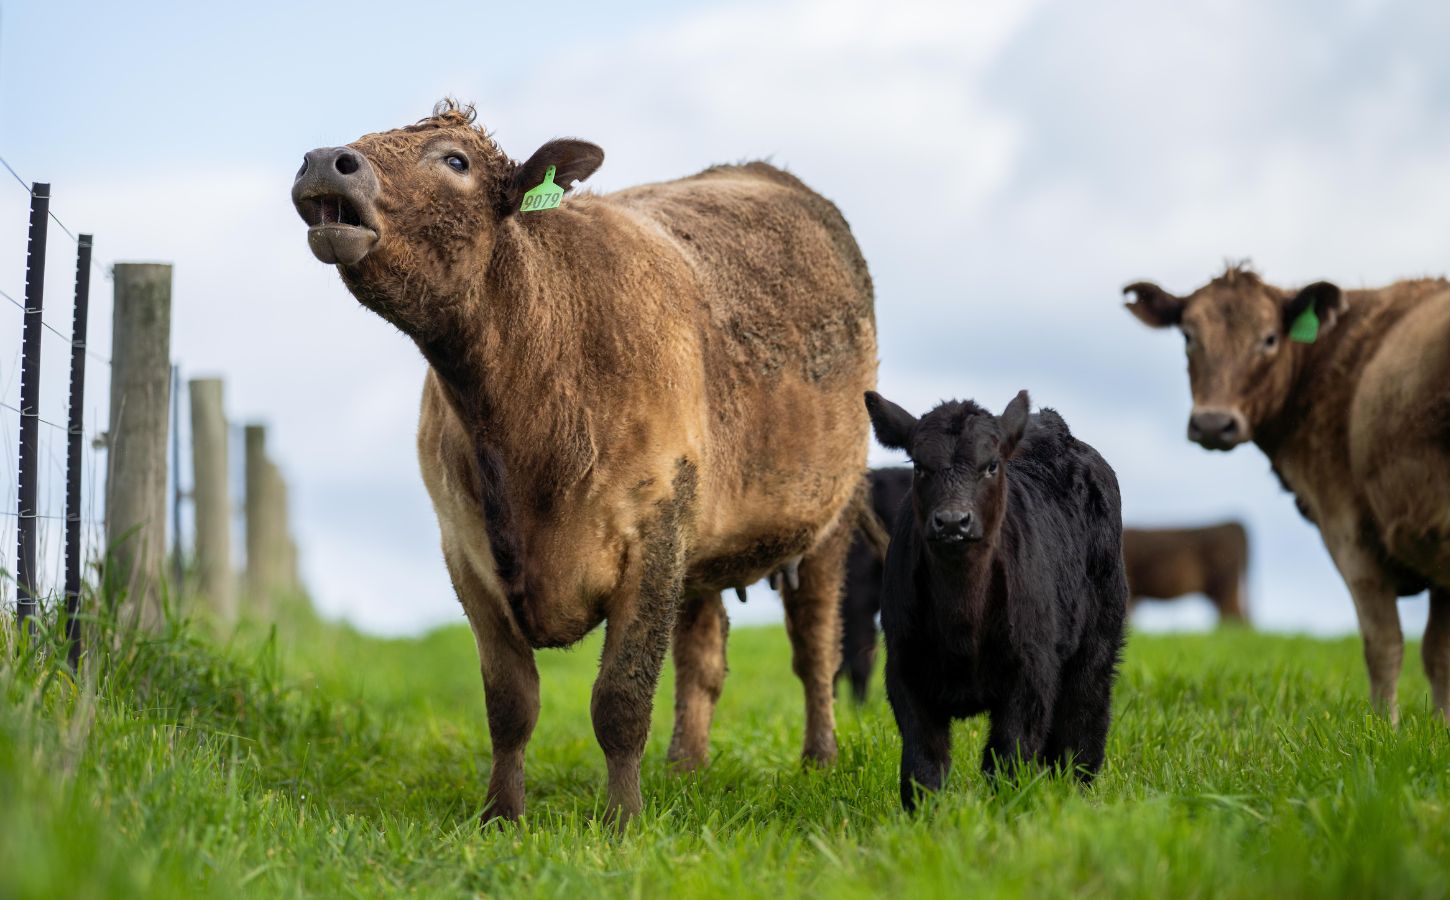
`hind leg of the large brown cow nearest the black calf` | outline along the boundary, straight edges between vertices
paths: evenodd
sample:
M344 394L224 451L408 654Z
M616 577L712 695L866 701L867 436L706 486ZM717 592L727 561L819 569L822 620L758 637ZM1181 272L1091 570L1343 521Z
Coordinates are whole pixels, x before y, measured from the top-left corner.
M837 525L821 546L800 561L799 587L782 590L792 667L806 694L802 757L822 765L835 762L832 681L841 664L841 581L850 545L850 525Z

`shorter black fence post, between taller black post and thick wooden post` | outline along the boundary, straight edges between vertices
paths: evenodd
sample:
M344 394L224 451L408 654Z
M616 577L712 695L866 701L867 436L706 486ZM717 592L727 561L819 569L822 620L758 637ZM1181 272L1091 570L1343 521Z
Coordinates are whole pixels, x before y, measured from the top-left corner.
M65 642L71 668L81 658L81 462L86 448L86 314L90 306L91 236L75 242L75 317L71 322L71 397L65 448Z

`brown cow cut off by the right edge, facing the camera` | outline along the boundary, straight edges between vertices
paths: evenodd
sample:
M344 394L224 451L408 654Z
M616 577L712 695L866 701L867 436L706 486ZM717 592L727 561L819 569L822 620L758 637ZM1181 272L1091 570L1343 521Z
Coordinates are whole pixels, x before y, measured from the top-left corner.
M1148 283L1124 293L1143 322L1183 332L1189 439L1253 441L1318 525L1354 597L1370 694L1392 719L1395 597L1430 588L1421 654L1450 719L1450 283L1286 291L1232 267L1188 297Z

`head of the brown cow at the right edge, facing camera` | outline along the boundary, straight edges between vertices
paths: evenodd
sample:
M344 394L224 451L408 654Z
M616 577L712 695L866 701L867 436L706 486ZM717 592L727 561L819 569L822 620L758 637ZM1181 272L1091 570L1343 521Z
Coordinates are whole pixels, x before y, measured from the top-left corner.
M1295 374L1289 329L1311 306L1318 333L1344 309L1340 288L1320 281L1298 293L1230 270L1188 297L1140 281L1124 288L1128 310L1153 328L1177 326L1188 354L1193 412L1188 438L1208 449L1232 449L1277 414Z

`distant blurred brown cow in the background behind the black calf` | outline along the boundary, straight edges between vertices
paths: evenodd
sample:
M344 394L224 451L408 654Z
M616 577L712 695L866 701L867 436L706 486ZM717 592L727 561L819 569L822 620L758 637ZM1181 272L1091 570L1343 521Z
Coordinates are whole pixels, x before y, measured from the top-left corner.
M1128 604L1204 594L1221 622L1248 622L1243 583L1248 535L1238 522L1205 528L1125 528Z

